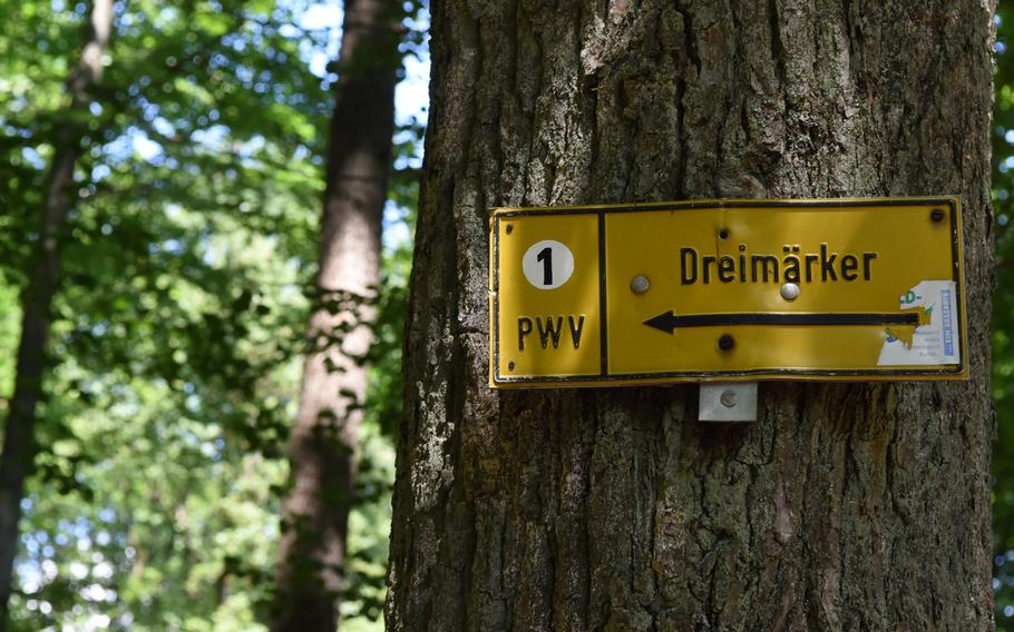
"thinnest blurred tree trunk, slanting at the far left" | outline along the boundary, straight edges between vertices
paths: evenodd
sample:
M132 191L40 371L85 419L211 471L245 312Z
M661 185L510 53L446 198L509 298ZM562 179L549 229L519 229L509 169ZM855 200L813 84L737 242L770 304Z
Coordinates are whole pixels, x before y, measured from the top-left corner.
M46 207L40 213L32 267L21 296L21 339L18 344L14 393L3 431L3 451L0 453L0 632L8 622L25 478L32 470L37 453L36 412L42 399L42 379L47 369L46 344L52 297L59 282L60 239L75 196L75 165L88 131L87 121L81 119L89 116L88 106L92 100L89 90L101 78L103 57L111 29L113 1L94 0L81 58L67 79L70 93L67 122L58 130Z

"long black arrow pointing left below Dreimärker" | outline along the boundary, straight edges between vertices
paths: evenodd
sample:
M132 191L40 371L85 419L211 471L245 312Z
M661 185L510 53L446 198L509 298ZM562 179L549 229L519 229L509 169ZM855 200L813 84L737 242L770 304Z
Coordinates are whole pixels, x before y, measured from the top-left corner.
M676 327L708 327L714 325L918 325L917 312L900 314L800 314L792 312L763 312L759 314L691 314L676 316L670 309L644 322L666 334Z

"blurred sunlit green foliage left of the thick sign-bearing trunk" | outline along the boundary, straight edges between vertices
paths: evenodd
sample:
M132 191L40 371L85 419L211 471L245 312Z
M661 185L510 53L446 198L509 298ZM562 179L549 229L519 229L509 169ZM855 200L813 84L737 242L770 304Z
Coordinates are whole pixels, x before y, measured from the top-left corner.
M18 630L251 630L272 590L316 260L329 32L273 0L116 4L53 306ZM0 419L18 293L89 7L0 0ZM412 154L409 139L403 152ZM411 182L393 197L411 203ZM404 245L386 261L343 611L377 620ZM381 432L383 428L383 432ZM358 580L358 581L357 581Z

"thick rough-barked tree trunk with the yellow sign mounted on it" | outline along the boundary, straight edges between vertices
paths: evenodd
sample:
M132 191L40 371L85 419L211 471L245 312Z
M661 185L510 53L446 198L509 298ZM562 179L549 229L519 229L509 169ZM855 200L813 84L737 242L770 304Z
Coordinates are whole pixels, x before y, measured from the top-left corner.
M992 7L456 0L432 95L392 630L988 630ZM487 387L487 208L961 194L972 381Z

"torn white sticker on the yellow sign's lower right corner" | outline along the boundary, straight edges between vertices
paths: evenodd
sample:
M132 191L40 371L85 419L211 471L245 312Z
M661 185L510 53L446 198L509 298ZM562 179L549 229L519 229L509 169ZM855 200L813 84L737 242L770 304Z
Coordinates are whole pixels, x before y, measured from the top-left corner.
M961 364L955 282L920 282L901 295L900 307L922 308L923 324L916 327L910 340L888 332L877 359L878 366Z

